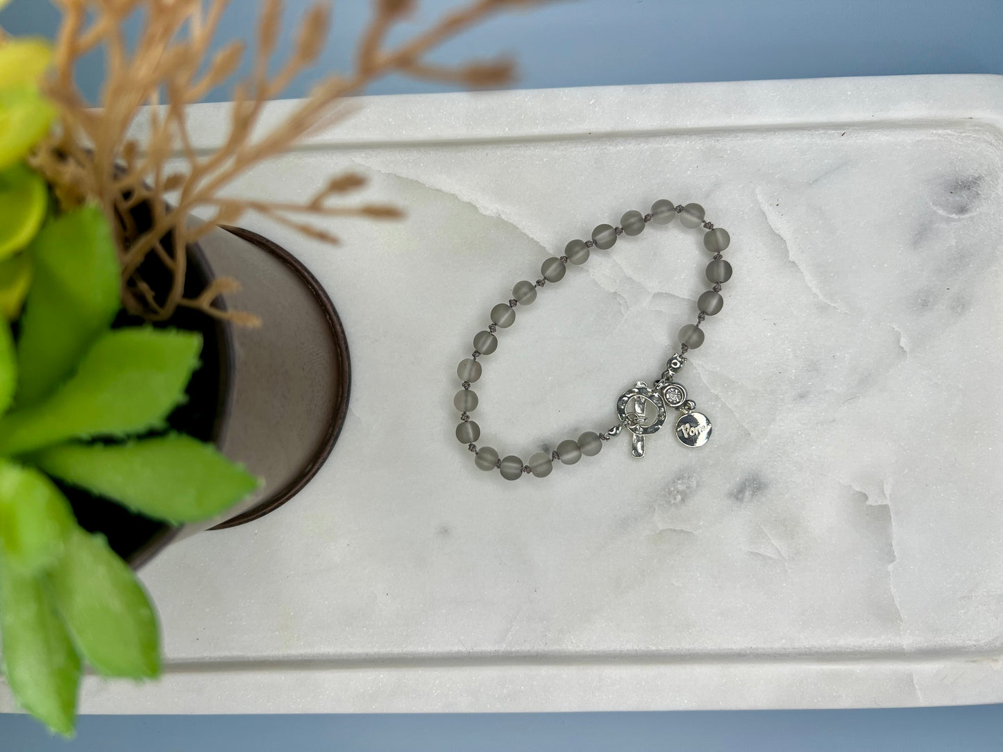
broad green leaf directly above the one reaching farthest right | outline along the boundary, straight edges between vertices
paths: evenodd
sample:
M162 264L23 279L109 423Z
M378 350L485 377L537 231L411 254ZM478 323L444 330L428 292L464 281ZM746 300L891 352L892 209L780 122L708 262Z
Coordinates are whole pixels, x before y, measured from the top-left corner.
M50 397L0 418L0 454L162 427L185 396L201 350L202 337L194 332L147 327L108 332Z

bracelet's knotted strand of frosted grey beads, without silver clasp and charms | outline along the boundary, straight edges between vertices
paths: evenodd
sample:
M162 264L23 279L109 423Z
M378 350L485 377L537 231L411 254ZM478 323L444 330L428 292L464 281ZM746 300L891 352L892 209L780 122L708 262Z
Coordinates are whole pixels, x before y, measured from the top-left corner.
M532 473L537 477L546 477L551 474L554 468L554 461L560 460L563 464L572 465L578 462L583 456L595 456L603 448L603 442L608 441L621 432L622 425L618 423L612 428L602 431L586 431L577 440L565 439L558 444L553 452L537 452L530 457L529 463L524 463L523 459L515 454L499 456L497 450L490 446L476 445L480 438L480 426L470 419L469 413L477 406L477 395L470 388L470 384L477 381L481 375L481 365L479 359L484 355L490 355L497 349L498 329L508 329L516 322L516 308L518 306L529 306L537 299L537 292L542 290L547 283L558 283L564 279L568 269L568 264L580 266L589 260L592 249L607 251L616 244L617 239L622 235L640 235L645 227L654 222L656 225L668 225L676 217L684 227L695 229L702 227L707 232L703 236L703 245L713 258L707 265L705 276L712 283L710 290L707 290L697 299L697 317L695 324L686 324L679 330L679 356L686 355L690 350L695 350L703 344L704 333L701 325L708 316L718 314L724 306L724 299L721 296L721 286L731 279L731 265L723 259L723 252L731 243L731 238L727 231L715 228L713 223L704 219L704 209L699 204L675 205L672 202L661 199L651 207L651 212L642 215L637 211L627 212L620 218L620 225L599 225L592 231L592 239L588 241L574 240L566 247L564 255L552 256L541 265L541 278L536 282L523 280L516 283L512 290L512 298L507 303L498 303L490 311L490 323L487 328L478 332L473 338L473 352L469 358L460 361L456 368L456 375L462 385L462 389L456 392L453 398L453 405L460 413L460 422L456 426L456 439L466 444L467 449L474 455L474 463L482 470L500 470L501 476L509 480L516 480L524 474ZM668 380L678 367L681 367L685 358L670 358L666 364L666 370L662 372L662 380ZM674 364L678 364L673 368Z

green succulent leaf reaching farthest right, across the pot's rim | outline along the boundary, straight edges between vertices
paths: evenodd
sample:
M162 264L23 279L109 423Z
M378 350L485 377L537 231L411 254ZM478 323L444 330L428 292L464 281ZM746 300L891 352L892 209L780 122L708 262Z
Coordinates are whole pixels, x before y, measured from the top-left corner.
M49 475L169 522L209 519L258 486L212 444L171 434L125 444L61 444L31 455Z

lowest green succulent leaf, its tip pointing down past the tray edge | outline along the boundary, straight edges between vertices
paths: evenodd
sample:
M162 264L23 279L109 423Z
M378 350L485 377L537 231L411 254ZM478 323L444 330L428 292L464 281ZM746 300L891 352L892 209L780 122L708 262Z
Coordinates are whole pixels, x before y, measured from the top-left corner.
M50 729L71 736L80 659L36 576L0 566L0 629L14 697Z

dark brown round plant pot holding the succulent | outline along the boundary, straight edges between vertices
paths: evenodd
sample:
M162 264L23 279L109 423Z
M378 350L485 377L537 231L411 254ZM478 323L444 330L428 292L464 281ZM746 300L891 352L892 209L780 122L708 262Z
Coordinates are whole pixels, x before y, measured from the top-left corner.
M187 402L168 419L171 428L213 442L263 479L251 496L212 521L220 529L275 510L320 469L348 409L348 343L320 283L287 251L255 233L214 231L189 249L188 269L186 297L198 295L217 275L235 277L242 290L221 296L217 304L251 311L263 321L250 329L180 308L154 325L203 336L202 365L189 383ZM141 271L154 291L170 284L162 269ZM138 323L122 313L115 326ZM62 487L80 524L103 533L133 568L183 529Z

